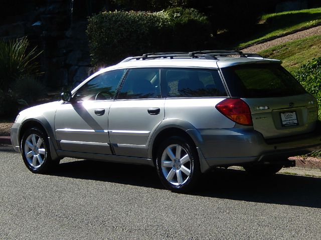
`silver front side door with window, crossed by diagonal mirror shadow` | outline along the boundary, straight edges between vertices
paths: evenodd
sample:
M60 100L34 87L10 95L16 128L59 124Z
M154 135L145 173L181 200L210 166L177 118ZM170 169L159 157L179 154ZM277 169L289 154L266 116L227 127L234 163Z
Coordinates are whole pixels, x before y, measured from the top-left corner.
M103 72L82 85L70 102L62 102L55 117L61 150L112 154L108 114L125 69Z

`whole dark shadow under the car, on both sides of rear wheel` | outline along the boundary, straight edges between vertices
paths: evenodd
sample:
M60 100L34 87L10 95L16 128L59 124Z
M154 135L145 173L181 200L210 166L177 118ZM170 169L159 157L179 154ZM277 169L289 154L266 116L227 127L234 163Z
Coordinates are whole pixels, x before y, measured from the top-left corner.
M62 162L52 175L164 189L155 168L77 160ZM321 178L276 174L254 177L243 170L217 168L202 177L191 195L321 208Z

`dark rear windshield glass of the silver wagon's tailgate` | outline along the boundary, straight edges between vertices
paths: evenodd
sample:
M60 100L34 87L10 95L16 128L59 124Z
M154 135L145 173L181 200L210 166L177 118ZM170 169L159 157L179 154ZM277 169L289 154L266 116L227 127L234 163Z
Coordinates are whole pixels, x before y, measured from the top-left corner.
M279 64L245 64L222 68L232 96L276 97L305 93L298 81Z

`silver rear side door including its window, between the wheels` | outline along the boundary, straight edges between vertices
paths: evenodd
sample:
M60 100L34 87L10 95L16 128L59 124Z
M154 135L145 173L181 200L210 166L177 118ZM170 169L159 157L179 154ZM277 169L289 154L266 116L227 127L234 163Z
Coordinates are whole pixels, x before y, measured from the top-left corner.
M147 141L165 116L159 68L130 69L109 112L109 138L116 155L147 156Z

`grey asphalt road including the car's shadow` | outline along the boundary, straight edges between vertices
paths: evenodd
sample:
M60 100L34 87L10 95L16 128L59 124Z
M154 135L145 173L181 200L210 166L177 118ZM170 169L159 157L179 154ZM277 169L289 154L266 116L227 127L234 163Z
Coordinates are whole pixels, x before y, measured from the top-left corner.
M321 178L207 174L194 194L151 167L64 159L50 175L0 146L0 239L321 239Z

